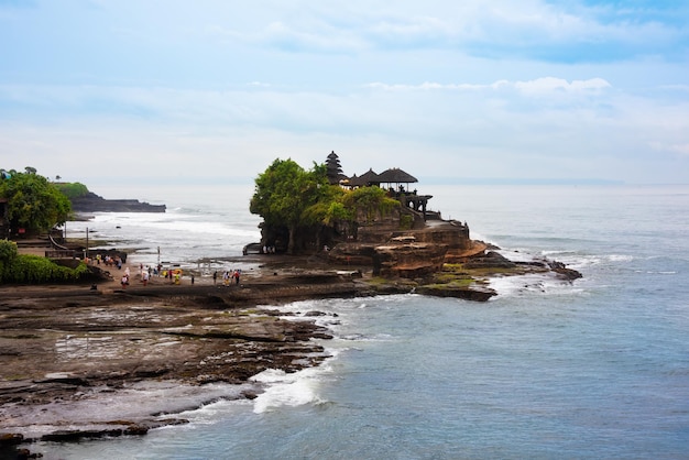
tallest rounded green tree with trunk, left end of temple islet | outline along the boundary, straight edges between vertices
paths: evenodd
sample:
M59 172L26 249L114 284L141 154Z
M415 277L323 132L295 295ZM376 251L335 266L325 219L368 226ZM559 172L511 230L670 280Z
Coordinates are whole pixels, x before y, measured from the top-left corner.
M261 216L266 226L285 227L289 234L287 252L294 253L299 228L313 223L305 210L329 188L325 166L314 164L311 171L305 171L292 158L277 158L254 182L249 210Z

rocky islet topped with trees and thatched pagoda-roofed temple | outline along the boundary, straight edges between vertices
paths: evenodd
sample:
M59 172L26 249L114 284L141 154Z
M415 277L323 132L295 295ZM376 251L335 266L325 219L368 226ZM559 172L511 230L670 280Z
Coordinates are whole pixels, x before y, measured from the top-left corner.
M250 209L263 217L262 239L244 253L315 254L332 266L365 267L381 285L480 302L496 295L491 276L581 276L557 261L512 262L472 240L467 222L428 210L433 196L412 190L417 178L397 167L350 177L331 152L310 171L275 160L255 183Z

